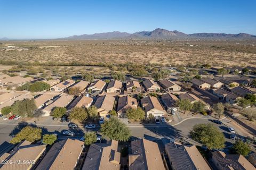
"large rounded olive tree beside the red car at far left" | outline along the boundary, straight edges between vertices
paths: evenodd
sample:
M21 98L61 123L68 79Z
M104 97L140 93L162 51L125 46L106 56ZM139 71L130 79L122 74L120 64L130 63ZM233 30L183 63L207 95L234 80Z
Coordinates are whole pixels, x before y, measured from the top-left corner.
M12 113L22 117L32 117L36 108L34 99L19 100L13 104Z

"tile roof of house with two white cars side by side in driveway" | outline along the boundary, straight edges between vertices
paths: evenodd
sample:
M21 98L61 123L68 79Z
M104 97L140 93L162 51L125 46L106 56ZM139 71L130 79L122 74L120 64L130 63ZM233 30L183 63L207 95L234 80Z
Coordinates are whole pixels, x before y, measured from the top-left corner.
M153 96L147 96L145 98L141 99L141 104L147 104L145 106L145 111L148 112L151 109L157 109L159 111L163 111L165 112L165 110L163 109L162 105L160 104L159 100L156 97Z

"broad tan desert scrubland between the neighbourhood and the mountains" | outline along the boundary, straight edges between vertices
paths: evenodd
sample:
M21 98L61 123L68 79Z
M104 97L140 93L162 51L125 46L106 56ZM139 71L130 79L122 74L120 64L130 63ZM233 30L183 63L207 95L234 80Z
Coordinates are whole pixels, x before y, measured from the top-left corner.
M9 47L8 47L9 46ZM10 48L10 46L14 49ZM18 49L17 49L18 48ZM256 40L2 41L0 61L255 66ZM5 63L6 64L6 63Z

